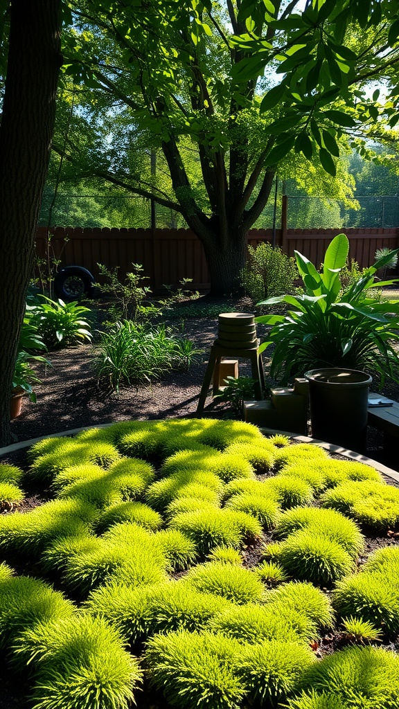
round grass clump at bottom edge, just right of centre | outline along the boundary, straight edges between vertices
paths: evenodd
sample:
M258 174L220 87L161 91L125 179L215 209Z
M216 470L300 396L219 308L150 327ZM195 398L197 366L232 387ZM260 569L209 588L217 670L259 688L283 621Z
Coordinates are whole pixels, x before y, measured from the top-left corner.
M310 648L289 640L264 640L244 649L239 675L250 700L275 706L295 691L306 669L315 663Z

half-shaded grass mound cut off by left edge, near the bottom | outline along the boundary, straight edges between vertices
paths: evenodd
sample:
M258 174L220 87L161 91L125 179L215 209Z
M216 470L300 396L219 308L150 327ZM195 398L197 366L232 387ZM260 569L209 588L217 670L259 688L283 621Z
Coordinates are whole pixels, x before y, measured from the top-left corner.
M0 584L0 647L9 648L28 627L72 613L72 602L44 581L30 576L5 578Z

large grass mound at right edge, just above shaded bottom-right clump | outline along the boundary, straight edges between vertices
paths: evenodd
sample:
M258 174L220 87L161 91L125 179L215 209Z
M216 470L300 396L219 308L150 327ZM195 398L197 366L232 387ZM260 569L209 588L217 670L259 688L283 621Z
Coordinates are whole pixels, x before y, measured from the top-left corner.
M395 569L397 571L397 569ZM353 615L367 620L393 637L399 630L398 576L381 571L361 571L337 584L332 603L341 618Z

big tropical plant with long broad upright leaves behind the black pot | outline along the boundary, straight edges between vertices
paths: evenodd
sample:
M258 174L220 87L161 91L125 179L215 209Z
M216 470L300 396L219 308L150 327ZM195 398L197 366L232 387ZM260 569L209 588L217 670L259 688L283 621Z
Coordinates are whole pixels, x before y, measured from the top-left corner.
M342 288L339 274L346 264L349 241L337 235L329 244L322 269L295 251L305 286L303 294L276 296L258 303L287 303L284 315L264 315L256 322L270 325L261 350L274 345L270 374L281 383L315 367L364 369L381 378L399 381L399 301L372 297L398 279L378 281L376 272L398 252L391 251Z

